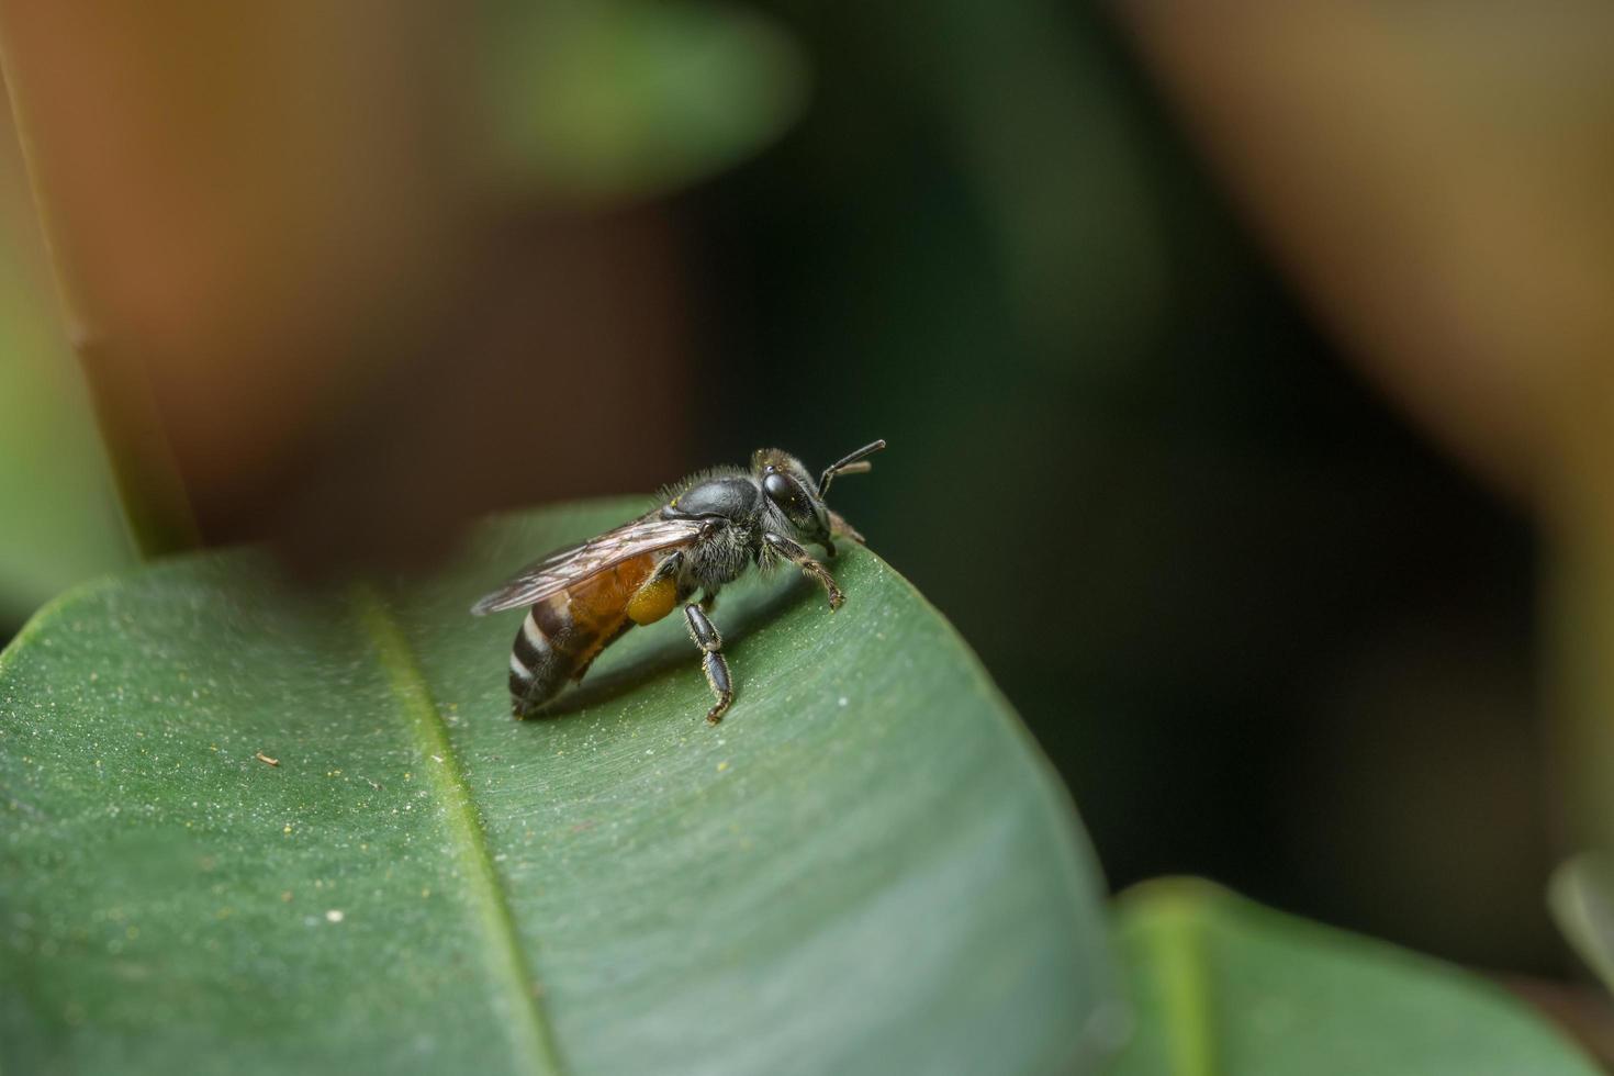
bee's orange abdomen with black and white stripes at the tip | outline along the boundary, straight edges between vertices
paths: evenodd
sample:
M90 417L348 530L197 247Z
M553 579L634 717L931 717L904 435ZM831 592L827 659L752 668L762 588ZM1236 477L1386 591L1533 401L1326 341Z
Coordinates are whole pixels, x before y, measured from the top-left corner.
M510 649L510 702L528 716L579 681L599 653L633 626L628 598L655 569L641 557L544 598L521 621Z

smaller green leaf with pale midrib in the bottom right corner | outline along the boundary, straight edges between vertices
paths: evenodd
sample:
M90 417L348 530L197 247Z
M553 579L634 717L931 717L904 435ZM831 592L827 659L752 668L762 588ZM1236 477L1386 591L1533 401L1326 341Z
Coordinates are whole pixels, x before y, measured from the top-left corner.
M1122 897L1139 1026L1115 1076L1593 1076L1501 987L1207 882Z

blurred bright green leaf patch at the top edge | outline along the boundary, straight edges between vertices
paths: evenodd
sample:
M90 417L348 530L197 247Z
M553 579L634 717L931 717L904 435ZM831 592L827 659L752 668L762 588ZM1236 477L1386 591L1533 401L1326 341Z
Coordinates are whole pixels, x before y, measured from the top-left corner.
M502 182L642 195L755 153L801 113L807 65L726 3L499 3L487 111Z

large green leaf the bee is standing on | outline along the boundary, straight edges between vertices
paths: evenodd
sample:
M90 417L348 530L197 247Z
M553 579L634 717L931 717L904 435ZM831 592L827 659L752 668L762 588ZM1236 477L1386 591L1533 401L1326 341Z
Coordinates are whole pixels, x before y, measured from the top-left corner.
M405 589L250 553L44 611L0 655L0 1068L1080 1071L1112 1041L1099 879L941 616L725 592L513 721L518 613L466 607L638 503L499 523ZM278 766L255 758L263 752Z

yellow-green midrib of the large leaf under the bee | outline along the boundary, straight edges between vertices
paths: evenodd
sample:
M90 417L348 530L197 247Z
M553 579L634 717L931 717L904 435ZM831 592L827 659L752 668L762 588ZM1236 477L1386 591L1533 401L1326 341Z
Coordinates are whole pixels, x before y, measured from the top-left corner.
M478 910L481 939L489 953L487 966L512 997L512 1020L507 1021L507 1029L518 1068L558 1076L563 1068L549 1016L539 1002L539 979L521 945L504 881L494 866L487 836L476 816L471 787L458 755L454 753L447 724L442 721L442 711L431 694L426 674L397 618L373 587L357 584L352 589L352 605L360 629L376 647L392 694L408 723L408 732L428 763L424 769L433 795L442 805L449 844L455 850L462 876L468 881L468 895ZM437 761L439 758L442 761Z

